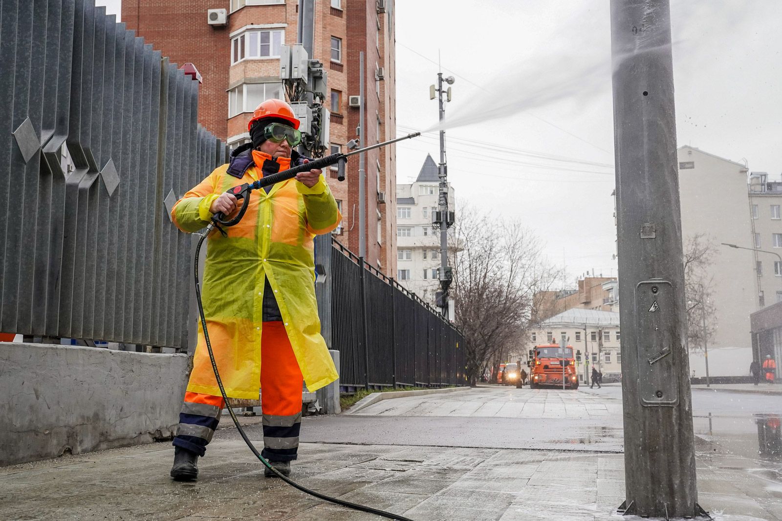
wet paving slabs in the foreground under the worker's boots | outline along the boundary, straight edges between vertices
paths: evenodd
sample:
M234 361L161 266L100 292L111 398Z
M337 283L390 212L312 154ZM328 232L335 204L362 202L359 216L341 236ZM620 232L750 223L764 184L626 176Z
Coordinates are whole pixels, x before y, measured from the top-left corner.
M168 477L169 444L100 451L0 469L0 519L379 519L266 479L240 441L216 441L201 479ZM698 460L701 505L716 519L782 519L782 485L751 461ZM623 456L507 449L303 444L292 478L418 521L618 519ZM746 466L747 468L737 467Z

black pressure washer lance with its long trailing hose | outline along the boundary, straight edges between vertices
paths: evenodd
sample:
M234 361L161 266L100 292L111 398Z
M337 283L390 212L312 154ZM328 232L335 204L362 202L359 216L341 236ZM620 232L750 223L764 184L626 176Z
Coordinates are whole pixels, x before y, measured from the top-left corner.
M396 143L396 141L411 139L412 137L417 137L420 135L421 135L420 132L416 132L414 134L407 134L407 136L404 137L398 137L391 141L378 143L377 145L372 145L371 147L353 150L352 152L348 152L347 154L338 153L338 154L327 155L324 158L314 159L313 161L303 163L302 165L299 166L295 166L292 169L284 170L282 172L273 173L270 176L262 177L260 180L257 180L254 183L245 183L239 185L238 187L233 187L228 192L234 194L236 198L244 199L244 202L242 202L242 209L239 210L239 214L237 214L235 218L226 221L223 220L223 215L220 212L215 213L212 218L212 222L209 224L209 226L206 227L206 230L203 232L203 234L201 234L201 238L198 241L198 245L195 247L195 269L194 269L195 299L198 302L199 316L201 317L201 325L203 326L203 337L204 340L206 341L206 350L209 351L209 359L210 362L212 362L214 378L215 380L217 380L217 387L220 387L220 393L223 395L223 400L225 401L225 407L228 409L228 414L230 414L231 419L234 420L236 430L239 430L239 434L242 436L242 439L249 447L249 450L253 451L253 454L256 456L256 458L259 459L260 462L263 463L267 469L270 469L276 476L278 476L280 479L285 481L285 483L299 489L305 494L310 494L315 498L322 499L323 501L329 501L331 503L334 503L335 505L344 506L349 509L360 510L361 512L368 512L370 514L386 517L388 519L397 519L397 521L413 521L413 520L404 516L400 516L398 514L386 512L384 510L373 509L371 507L364 506L364 505L357 505L356 503L351 503L350 501L344 501L343 499L339 499L339 498L332 498L331 496L327 496L325 494L321 494L320 492L312 491L307 487L303 487L302 485L297 484L296 481L291 480L288 476L283 476L282 473L279 473L277 469L274 469L274 467L271 466L271 464L267 461L267 459L265 459L262 455L260 455L260 452L258 451L258 449L255 448L253 442L249 441L249 437L247 437L247 434L245 434L245 431L242 429L242 426L239 425L239 418L236 417L236 413L234 412L234 409L231 408L231 403L228 401L228 395L225 394L225 388L223 387L223 380L221 380L220 373L217 371L217 362L214 361L214 353L212 352L212 343L209 340L209 331L206 330L206 316L204 316L203 302L201 301L201 283L199 281L198 266L199 266L199 255L201 253L201 246L203 244L203 241L206 240L206 237L209 236L209 234L212 232L214 228L220 230L221 234L226 235L225 230L219 227L218 223L222 224L223 226L231 227L231 226L235 226L235 224L239 223L239 221L242 220L242 217L247 211L250 191L258 190L260 188L270 186L271 184L279 183L280 181L292 179L293 177L296 177L297 173L300 172L308 172L313 169L323 170L327 166L332 166L334 164L338 166L337 179L342 181L345 180L345 164L347 162L347 158L349 158L351 155L355 155L360 152L366 152L373 148L384 147L386 145Z

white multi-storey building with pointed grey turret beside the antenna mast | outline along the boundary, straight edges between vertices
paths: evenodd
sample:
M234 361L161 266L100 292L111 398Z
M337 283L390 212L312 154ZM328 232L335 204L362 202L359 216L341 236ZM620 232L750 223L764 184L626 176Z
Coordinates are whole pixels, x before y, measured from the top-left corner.
M440 266L439 228L432 226L437 211L437 164L427 155L412 184L396 185L396 280L436 306ZM448 187L448 207L454 209L454 188Z

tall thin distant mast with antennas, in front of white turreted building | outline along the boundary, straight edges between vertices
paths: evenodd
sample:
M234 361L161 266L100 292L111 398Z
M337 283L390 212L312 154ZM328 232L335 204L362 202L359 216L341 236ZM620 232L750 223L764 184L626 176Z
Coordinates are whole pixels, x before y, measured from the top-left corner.
M447 101L450 102L450 87L443 89L443 81L449 85L454 84L454 77L443 78L443 73L437 73L437 94L439 102L439 121L445 119L445 104L443 103L443 92L447 93ZM439 194L437 199L438 212L432 219L432 223L439 226L440 230L440 309L443 310L443 316L448 316L448 288L453 280L450 266L448 266L448 227L453 224L448 212L448 167L445 159L445 130L440 130L440 162L438 165Z

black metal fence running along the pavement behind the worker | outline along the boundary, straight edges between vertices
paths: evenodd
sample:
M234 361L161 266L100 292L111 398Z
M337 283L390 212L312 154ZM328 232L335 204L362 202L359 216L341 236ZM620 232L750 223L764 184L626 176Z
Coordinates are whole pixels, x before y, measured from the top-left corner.
M340 385L466 385L464 337L418 296L333 241L332 348Z

